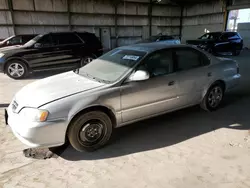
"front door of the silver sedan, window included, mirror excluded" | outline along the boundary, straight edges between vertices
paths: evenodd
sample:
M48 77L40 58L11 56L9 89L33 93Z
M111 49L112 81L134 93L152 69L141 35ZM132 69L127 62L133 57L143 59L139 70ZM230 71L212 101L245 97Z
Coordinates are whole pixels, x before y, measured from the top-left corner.
M150 78L125 82L121 87L122 122L154 116L176 108L178 81L174 73L173 53L161 50L149 55L137 68Z

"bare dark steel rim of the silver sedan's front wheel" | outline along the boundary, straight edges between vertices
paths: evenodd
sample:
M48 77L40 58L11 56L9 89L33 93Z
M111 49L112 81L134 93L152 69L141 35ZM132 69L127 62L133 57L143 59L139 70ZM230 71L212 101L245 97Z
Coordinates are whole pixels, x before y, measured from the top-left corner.
M89 122L83 125L80 139L83 142L95 142L103 135L103 124L101 122Z

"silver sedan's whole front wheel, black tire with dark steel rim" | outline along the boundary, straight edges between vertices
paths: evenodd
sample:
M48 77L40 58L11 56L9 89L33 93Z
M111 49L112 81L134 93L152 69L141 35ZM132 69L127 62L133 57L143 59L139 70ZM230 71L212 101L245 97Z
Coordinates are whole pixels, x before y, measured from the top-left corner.
M78 116L69 126L68 139L77 151L94 151L109 141L113 126L109 116L101 111Z

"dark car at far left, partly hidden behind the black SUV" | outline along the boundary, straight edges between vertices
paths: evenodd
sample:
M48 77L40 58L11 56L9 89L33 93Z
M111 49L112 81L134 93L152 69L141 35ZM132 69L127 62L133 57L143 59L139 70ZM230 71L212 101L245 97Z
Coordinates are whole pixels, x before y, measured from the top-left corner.
M0 42L0 48L6 47L6 46L14 46L14 45L23 45L26 42L33 39L35 34L25 34L25 35L14 35L7 39L4 39Z

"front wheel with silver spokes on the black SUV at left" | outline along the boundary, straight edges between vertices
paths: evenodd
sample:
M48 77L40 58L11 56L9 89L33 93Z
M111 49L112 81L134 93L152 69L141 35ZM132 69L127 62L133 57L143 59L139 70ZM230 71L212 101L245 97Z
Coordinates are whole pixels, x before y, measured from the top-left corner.
M11 60L7 63L5 72L10 78L21 79L28 76L28 67L20 60Z

